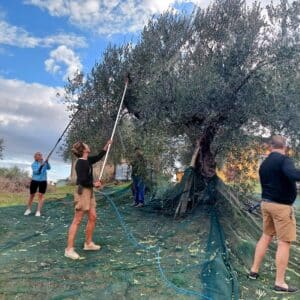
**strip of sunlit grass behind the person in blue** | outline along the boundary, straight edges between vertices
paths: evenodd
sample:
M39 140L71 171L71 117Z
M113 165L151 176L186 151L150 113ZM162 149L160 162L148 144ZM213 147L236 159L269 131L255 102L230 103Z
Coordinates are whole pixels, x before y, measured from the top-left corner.
M65 198L67 194L73 194L74 186L66 185L62 187L51 186L45 194L46 200L58 200ZM27 203L29 192L8 193L0 192L0 207L25 205ZM37 201L37 196L35 201Z

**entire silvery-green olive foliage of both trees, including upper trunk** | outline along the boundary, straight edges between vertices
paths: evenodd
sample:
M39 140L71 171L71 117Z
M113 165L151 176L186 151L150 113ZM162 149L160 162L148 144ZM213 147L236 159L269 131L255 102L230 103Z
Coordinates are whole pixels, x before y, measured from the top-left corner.
M263 9L216 0L191 16L152 18L135 46L109 46L87 76L77 101L85 110L68 142L104 143L130 71L119 131L129 154L144 144L149 155L169 149L174 161L186 142L195 148L195 169L210 178L233 145L241 149L263 130L297 145L299 14L299 1ZM117 135L116 154L120 144Z

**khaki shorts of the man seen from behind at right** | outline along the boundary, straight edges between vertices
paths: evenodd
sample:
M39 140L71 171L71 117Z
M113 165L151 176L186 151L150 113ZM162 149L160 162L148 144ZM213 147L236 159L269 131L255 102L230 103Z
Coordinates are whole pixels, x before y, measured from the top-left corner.
M296 219L293 206L263 201L263 232L283 242L296 241Z

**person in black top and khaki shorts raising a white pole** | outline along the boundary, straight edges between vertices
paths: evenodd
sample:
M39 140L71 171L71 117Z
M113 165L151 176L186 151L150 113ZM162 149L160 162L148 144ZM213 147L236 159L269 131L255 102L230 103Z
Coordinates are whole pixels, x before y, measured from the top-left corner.
M69 228L68 245L65 249L65 256L71 259L79 259L80 256L74 250L75 236L78 227L85 213L88 215L88 223L86 226L86 239L84 250L99 250L100 245L96 245L92 241L92 236L96 224L96 200L93 187L100 188L101 182L93 180L93 164L98 162L106 153L108 146L112 141L108 141L103 150L96 156L89 156L90 148L87 144L77 142L72 147L72 153L78 157L75 165L77 174L76 190L74 193L75 215L73 222Z

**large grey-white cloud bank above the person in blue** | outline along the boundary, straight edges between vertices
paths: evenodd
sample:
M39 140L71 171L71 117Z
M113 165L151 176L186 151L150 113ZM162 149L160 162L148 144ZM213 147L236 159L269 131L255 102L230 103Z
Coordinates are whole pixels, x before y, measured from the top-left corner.
M0 137L4 139L4 155L31 156L37 150L50 151L69 121L57 92L63 95L62 88L0 77Z

